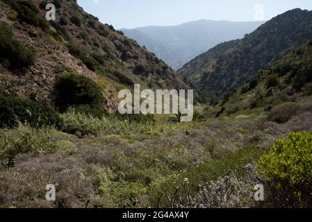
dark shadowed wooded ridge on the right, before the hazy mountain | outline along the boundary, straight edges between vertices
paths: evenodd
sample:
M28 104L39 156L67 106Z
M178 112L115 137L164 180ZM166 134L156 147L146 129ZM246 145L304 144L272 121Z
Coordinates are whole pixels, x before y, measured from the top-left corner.
M225 42L191 60L178 72L214 102L312 38L312 11L299 8L274 17L242 40Z

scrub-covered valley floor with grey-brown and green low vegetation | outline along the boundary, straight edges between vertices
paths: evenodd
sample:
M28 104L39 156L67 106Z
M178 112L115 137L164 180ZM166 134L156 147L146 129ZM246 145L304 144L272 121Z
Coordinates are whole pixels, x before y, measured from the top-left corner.
M2 207L259 207L255 163L274 140L312 132L312 110L284 124L265 115L204 123L102 120L97 135L74 137L53 128L2 130L1 154L24 152L0 168ZM44 138L47 138L44 140ZM21 152L23 153L23 152ZM45 200L46 185L56 201Z

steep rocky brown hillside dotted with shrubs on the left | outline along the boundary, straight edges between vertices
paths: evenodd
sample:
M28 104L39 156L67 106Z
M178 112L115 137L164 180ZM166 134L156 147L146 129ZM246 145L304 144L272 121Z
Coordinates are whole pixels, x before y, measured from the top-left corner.
M44 19L45 6L51 2L57 8L55 22ZM132 88L133 83L186 88L182 78L154 54L113 26L101 24L74 0L0 4L1 37L8 40L1 45L0 60L1 91L6 94L50 103L55 77L73 71L101 85L104 106L110 111L116 108L117 90ZM28 54L22 53L24 49Z

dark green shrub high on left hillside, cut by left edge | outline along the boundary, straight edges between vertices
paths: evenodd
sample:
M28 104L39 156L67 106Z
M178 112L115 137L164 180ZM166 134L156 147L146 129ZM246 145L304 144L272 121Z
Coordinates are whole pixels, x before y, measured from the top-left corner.
M10 69L21 69L33 64L33 52L15 40L10 28L3 23L0 23L0 40L0 60L8 62Z

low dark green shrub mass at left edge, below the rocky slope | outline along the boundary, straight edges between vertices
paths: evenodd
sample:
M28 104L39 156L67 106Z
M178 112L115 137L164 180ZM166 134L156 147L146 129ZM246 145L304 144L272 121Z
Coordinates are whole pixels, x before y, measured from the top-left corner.
M60 124L60 117L51 108L15 96L0 96L0 128L12 128L21 123L32 127Z

